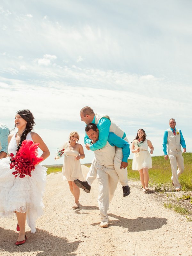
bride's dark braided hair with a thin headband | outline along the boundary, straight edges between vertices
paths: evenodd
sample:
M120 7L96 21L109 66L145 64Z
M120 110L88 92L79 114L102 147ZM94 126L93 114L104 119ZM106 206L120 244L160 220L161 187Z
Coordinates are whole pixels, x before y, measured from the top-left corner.
M20 115L27 122L25 130L21 134L19 146L17 147L17 152L18 152L23 140L26 140L27 134L29 132L31 132L33 127L35 126L35 122L34 122L35 118L34 118L33 114L31 113L31 111L28 109L19 110L19 111L17 111L17 114ZM16 125L15 125L15 127L16 127Z

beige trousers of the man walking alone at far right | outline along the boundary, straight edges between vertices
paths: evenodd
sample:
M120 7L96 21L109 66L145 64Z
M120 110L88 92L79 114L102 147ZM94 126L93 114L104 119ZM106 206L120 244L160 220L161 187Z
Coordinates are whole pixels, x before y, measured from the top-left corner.
M184 159L182 151L174 151L169 154L169 160L171 164L172 177L171 180L174 183L175 188L181 188L181 184L178 180L181 173L184 172ZM178 168L177 168L178 167Z

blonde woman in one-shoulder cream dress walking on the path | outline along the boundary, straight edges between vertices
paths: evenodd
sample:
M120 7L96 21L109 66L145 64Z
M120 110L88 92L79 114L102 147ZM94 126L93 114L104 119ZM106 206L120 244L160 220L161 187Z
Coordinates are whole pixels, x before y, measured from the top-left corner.
M62 178L68 181L70 191L75 198L75 204L72 206L74 209L79 207L80 195L80 189L76 186L74 180L84 180L79 159L83 159L85 155L83 146L76 143L78 140L79 134L77 132L69 134L69 140L64 147L64 163L62 168Z

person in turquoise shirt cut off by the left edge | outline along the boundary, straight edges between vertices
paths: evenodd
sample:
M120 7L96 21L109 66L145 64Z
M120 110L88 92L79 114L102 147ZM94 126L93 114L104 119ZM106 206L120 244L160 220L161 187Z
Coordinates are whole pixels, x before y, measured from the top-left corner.
M0 159L7 156L9 128L0 123Z

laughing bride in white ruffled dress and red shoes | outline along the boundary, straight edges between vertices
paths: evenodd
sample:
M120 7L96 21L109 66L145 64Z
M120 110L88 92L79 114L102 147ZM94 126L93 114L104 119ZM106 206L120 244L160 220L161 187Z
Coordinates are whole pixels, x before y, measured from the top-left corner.
M8 136L8 153L16 155L24 140L31 140L39 143L39 148L43 151L41 157L46 159L49 155L49 149L41 137L31 132L35 125L33 114L28 110L19 110L15 116L15 127L18 131ZM35 221L43 213L43 192L46 180L46 168L40 164L35 166L31 172L31 177L26 175L20 178L15 177L10 169L10 158L0 159L0 216L8 216L13 212L17 216L17 231L19 236L16 245L24 244L27 237L25 236L25 222L35 233Z

